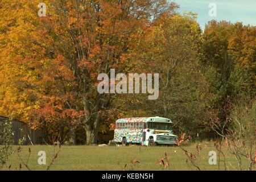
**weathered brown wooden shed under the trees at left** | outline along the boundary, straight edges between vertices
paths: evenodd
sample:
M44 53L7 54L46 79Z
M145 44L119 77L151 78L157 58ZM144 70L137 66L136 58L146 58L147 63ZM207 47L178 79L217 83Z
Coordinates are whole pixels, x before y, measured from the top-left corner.
M9 121L9 118L0 116L0 122ZM19 140L23 140L23 144L43 144L44 130L32 130L27 123L13 119L14 144L19 144Z

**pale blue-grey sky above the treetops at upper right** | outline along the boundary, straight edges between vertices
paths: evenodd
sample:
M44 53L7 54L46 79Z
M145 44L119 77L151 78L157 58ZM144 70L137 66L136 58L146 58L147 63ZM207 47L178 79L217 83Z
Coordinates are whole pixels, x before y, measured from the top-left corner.
M174 2L180 5L180 13L184 11L197 13L197 22L203 30L205 23L211 19L256 26L256 0L174 0ZM209 16L210 3L217 5L216 17Z

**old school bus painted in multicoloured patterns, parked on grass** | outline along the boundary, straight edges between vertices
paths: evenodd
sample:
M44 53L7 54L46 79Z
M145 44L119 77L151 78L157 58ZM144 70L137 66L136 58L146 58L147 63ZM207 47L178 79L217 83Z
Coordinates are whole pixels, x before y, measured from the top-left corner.
M144 146L176 144L172 134L172 121L161 117L122 118L115 122L114 142L127 145L139 143Z

